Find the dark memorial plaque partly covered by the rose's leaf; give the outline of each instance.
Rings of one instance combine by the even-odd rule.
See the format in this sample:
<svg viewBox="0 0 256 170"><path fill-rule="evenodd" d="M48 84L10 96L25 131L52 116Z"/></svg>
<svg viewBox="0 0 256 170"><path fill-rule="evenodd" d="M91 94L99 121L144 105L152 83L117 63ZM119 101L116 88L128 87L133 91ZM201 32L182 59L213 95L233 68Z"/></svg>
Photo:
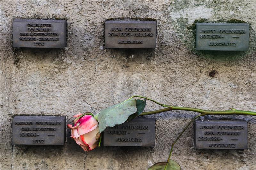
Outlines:
<svg viewBox="0 0 256 170"><path fill-rule="evenodd" d="M155 146L155 118L136 118L104 130L104 146Z"/></svg>

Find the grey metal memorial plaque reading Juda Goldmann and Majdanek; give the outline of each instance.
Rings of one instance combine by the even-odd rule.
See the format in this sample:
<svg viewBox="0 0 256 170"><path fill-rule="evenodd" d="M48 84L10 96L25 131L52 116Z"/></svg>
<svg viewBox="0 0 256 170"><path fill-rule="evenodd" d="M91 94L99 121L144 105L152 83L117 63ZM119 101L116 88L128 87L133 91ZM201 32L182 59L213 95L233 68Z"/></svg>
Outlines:
<svg viewBox="0 0 256 170"><path fill-rule="evenodd" d="M156 21L106 21L105 48L156 48Z"/></svg>

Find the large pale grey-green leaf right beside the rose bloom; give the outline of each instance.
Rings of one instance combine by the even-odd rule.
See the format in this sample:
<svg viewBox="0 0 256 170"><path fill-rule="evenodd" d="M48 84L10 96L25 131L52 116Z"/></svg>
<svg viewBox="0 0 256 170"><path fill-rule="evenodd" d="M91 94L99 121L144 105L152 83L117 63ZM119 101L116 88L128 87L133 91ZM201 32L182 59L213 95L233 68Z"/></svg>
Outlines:
<svg viewBox="0 0 256 170"><path fill-rule="evenodd" d="M128 117L135 112L137 112L137 108L134 98L100 110L100 114L98 115L100 133L103 132L107 126L113 127L116 124L124 123Z"/></svg>

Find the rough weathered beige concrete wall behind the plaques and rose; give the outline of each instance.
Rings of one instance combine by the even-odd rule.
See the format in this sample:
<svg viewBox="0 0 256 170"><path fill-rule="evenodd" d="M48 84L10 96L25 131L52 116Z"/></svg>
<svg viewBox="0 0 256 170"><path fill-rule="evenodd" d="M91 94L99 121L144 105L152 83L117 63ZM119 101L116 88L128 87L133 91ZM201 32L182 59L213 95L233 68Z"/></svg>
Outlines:
<svg viewBox="0 0 256 170"><path fill-rule="evenodd" d="M166 161L170 144L195 113L156 117L154 148L101 147L84 152L64 146L13 146L14 115L74 114L118 103L133 94L165 104L256 111L255 1L1 1L1 169L147 169ZM104 49L109 18L157 20L157 48ZM67 20L65 49L12 48L13 18ZM197 52L195 20L250 24L247 52ZM209 76L209 72L217 73ZM146 111L160 107L148 102ZM248 149L196 150L192 126L172 159L182 169L255 169L256 118L248 122ZM220 118L209 116L209 118Z"/></svg>

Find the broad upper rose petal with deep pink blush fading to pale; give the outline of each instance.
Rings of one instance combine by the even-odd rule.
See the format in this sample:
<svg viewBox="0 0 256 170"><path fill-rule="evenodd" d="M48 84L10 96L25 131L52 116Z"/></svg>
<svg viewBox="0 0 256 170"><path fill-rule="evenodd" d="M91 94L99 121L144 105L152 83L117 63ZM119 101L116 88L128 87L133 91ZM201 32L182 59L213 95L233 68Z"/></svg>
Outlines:
<svg viewBox="0 0 256 170"><path fill-rule="evenodd" d="M79 123L77 130L79 135L91 132L98 126L98 121L92 115L83 116L77 121L77 123Z"/></svg>

